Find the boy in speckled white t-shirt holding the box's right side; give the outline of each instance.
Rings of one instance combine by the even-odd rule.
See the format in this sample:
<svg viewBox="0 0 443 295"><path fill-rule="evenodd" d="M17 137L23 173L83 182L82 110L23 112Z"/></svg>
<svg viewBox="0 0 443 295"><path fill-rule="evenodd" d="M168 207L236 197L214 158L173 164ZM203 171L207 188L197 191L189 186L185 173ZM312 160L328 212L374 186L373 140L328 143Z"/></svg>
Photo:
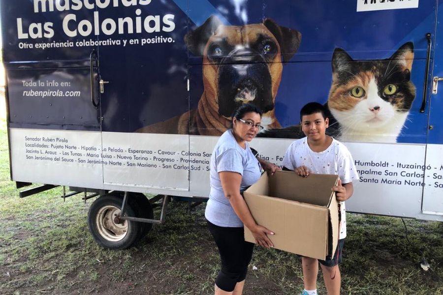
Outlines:
<svg viewBox="0 0 443 295"><path fill-rule="evenodd" d="M329 295L340 294L341 275L338 264L342 261L342 249L346 237L345 201L352 196L352 180L358 179L351 154L342 143L325 134L329 119L325 108L316 102L306 104L300 111L301 126L305 138L294 141L285 153L284 170L293 170L301 177L311 173L336 174L340 177L332 190L340 201L340 236L337 251L332 259L320 261L302 257L303 281L305 290L302 295L316 295L318 262L323 271L324 284Z"/></svg>

